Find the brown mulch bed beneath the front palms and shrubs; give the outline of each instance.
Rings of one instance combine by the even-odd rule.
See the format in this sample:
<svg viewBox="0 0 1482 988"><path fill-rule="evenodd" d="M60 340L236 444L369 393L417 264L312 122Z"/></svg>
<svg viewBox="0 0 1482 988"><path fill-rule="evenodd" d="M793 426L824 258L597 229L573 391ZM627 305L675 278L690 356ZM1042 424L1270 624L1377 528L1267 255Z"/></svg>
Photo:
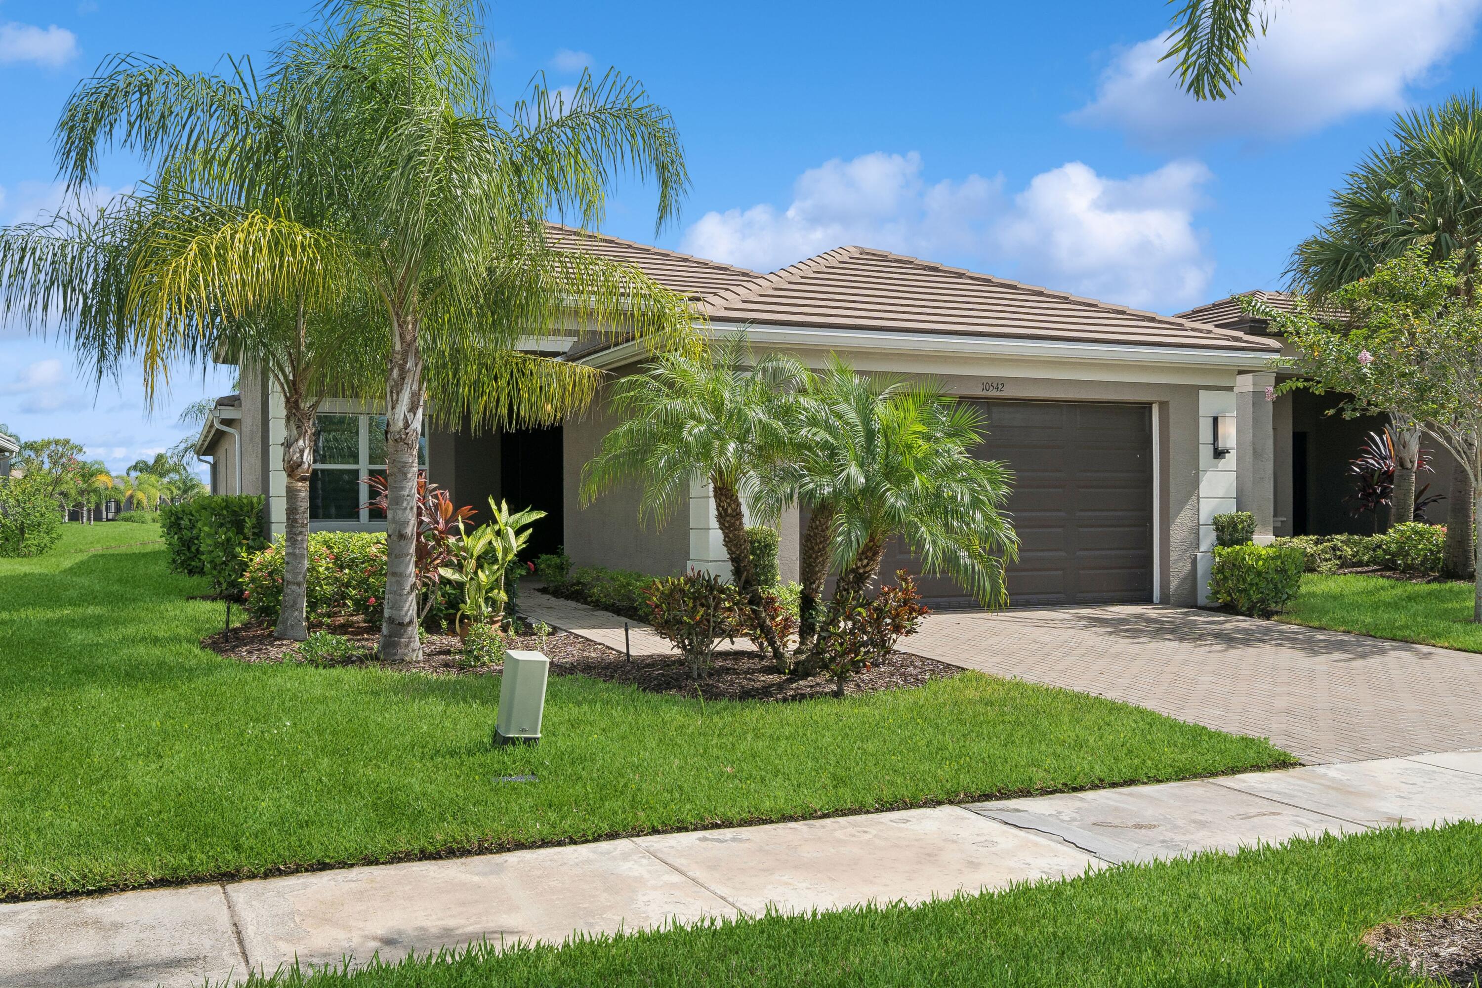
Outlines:
<svg viewBox="0 0 1482 988"><path fill-rule="evenodd" d="M316 628L317 631L319 628ZM344 635L365 653L375 650L379 628L365 621L351 619L333 624L326 631ZM273 637L273 628L246 624L230 632L215 632L202 638L202 646L239 662L293 662L298 661L296 641L282 641ZM717 652L714 668L698 684L689 674L689 664L679 655L634 655L625 659L621 652L582 638L568 631L556 631L544 643L536 635L517 635L511 649L544 652L551 661L554 675L590 675L609 683L637 686L649 693L671 693L674 696L701 696L704 699L765 699L793 701L833 693L833 681L823 677L797 678L781 675L760 652L737 649ZM375 665L403 671L419 671L445 675L498 675L502 667L485 665L464 668L461 665L462 643L456 635L428 634L422 640L422 658L408 664L385 664L373 658L357 665ZM962 670L946 662L935 662L907 652L892 652L883 662L861 671L846 684L846 692L874 693L877 690L922 686L929 680L957 675Z"/></svg>

